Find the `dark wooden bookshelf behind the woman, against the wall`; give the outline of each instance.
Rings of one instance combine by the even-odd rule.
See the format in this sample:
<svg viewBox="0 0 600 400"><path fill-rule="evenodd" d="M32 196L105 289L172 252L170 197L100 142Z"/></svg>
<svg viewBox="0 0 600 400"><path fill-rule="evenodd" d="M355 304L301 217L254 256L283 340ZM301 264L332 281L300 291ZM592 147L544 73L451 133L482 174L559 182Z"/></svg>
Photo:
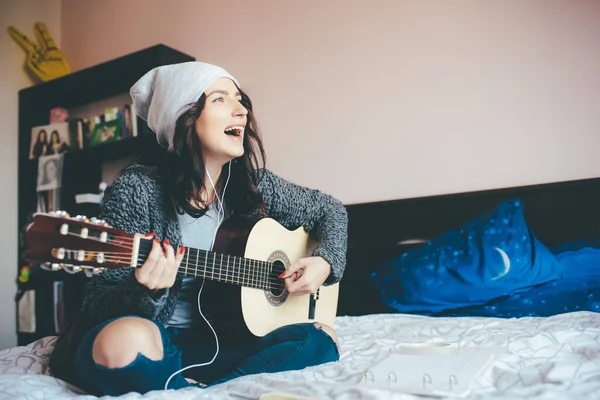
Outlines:
<svg viewBox="0 0 600 400"><path fill-rule="evenodd" d="M50 110L54 107L70 110L126 95L129 88L152 68L194 60L190 55L159 44L19 91L19 238L28 216L37 209L38 163L37 160L29 159L32 128L48 124ZM153 135L140 135L65 153L62 186L57 196L59 207L71 215L79 214L75 195L98 192L104 163L135 155L152 154L157 149L158 144ZM18 241L17 246L18 274L26 263L22 257L25 251L22 240ZM68 318L79 307L87 279L82 273L71 275L63 271L51 272L35 267L26 283L17 281L18 344L24 345L41 337L59 333L55 322L57 312ZM61 310L57 310L55 305L56 282L62 285ZM35 294L35 331L25 333L19 331L18 300L28 291L34 291Z"/></svg>

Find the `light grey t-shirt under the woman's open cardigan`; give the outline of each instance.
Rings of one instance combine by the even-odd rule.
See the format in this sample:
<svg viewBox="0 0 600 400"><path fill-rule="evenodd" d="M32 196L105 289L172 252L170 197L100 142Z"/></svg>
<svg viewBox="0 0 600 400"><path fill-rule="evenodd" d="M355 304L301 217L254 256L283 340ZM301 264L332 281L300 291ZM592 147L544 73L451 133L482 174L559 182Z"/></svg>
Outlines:
<svg viewBox="0 0 600 400"><path fill-rule="evenodd" d="M177 215L184 246L193 249L211 250L217 229L217 210L216 204L212 203L206 214L200 218L194 218L187 213ZM192 290L194 279L197 278L183 278L179 299L167 326L189 328L192 325L192 320L199 316L198 292Z"/></svg>

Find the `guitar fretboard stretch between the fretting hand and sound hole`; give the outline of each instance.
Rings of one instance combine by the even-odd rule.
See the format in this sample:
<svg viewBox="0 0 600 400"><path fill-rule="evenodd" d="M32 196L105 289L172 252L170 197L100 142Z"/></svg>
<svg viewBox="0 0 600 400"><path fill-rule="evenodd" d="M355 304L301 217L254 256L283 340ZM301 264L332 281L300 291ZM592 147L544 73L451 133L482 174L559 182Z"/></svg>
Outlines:
<svg viewBox="0 0 600 400"><path fill-rule="evenodd" d="M179 266L186 276L270 290L276 283L273 264L187 247Z"/></svg>

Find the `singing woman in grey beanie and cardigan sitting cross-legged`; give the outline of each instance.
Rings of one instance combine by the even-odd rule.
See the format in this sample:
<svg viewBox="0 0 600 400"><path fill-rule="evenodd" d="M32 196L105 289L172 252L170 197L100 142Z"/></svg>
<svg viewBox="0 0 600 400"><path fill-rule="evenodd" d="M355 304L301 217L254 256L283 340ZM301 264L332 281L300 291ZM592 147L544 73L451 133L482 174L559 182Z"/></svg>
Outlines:
<svg viewBox="0 0 600 400"><path fill-rule="evenodd" d="M155 165L125 168L104 194L101 218L154 238L141 268L92 278L59 337L52 373L97 395L214 385L261 372L336 361L332 327L299 323L264 337L214 332L202 279L177 274L185 246L211 250L223 220L270 217L304 226L318 245L280 276L291 295L339 282L345 267L343 205L265 169L250 99L220 67L155 68L131 89L138 114L166 149ZM182 371L183 370L183 371Z"/></svg>

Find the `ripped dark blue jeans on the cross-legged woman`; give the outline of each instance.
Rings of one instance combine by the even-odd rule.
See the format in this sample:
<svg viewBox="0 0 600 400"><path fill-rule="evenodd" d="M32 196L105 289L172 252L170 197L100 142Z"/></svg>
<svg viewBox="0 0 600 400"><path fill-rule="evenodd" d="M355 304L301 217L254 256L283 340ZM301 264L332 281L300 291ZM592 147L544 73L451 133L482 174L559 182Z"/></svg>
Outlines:
<svg viewBox="0 0 600 400"><path fill-rule="evenodd" d="M123 368L107 368L94 362L92 348L98 333L112 321L91 329L79 344L75 356L78 384L97 396L162 390L175 371L209 362L215 355L214 336L199 336L193 328L165 328L152 320L162 336L163 359L153 361L139 353L131 364ZM331 336L312 323L284 326L264 337L241 343L219 338L219 347L219 353L211 364L190 368L173 376L168 389L197 386L185 378L212 386L244 375L298 370L339 360L339 352Z"/></svg>

